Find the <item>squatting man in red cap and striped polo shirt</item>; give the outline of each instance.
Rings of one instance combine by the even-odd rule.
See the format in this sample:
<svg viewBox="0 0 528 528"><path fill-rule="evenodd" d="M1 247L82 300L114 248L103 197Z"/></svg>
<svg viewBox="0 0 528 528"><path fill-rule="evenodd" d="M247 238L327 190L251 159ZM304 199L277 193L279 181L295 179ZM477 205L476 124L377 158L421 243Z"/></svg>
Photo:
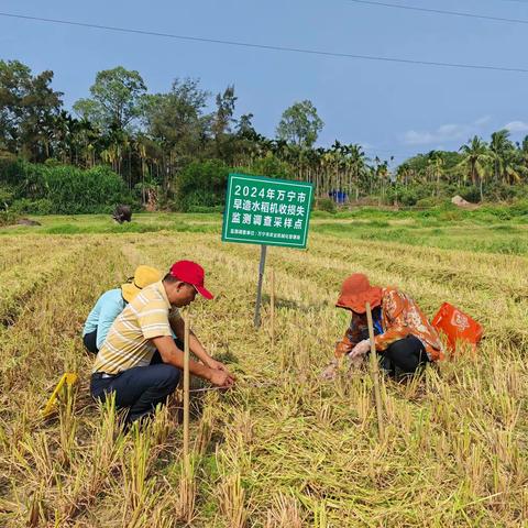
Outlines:
<svg viewBox="0 0 528 528"><path fill-rule="evenodd" d="M90 391L96 399L116 395L118 408L127 408L128 422L152 414L177 387L184 353L173 339L183 340L184 322L178 308L190 305L196 294L212 299L204 286L204 268L190 261L176 262L163 280L143 288L114 320L99 350ZM189 349L200 360L190 361L191 374L219 387L229 387L234 377L213 360L191 333ZM163 363L151 364L156 350Z"/></svg>

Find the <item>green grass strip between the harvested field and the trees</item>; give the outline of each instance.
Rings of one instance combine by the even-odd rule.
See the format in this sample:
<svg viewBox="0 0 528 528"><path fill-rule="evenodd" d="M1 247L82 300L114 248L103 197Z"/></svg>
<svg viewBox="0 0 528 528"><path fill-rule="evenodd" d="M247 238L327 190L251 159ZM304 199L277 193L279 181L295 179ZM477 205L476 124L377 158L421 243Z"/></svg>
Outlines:
<svg viewBox="0 0 528 528"><path fill-rule="evenodd" d="M502 212L509 220L501 220ZM519 215L510 215L510 210ZM439 207L427 211L387 211L362 208L336 215L315 211L310 231L340 239L399 242L414 246L512 255L528 254L528 222L524 209L490 208L465 211ZM41 234L132 234L132 233L211 233L220 237L220 213L138 213L132 222L118 224L107 215L32 217L41 227L0 228L0 235Z"/></svg>

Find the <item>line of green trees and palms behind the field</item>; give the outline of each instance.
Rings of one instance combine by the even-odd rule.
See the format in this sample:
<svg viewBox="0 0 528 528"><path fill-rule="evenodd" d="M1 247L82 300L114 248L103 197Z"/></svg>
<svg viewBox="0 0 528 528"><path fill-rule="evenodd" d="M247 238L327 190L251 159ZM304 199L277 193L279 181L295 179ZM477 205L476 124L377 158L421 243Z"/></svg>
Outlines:
<svg viewBox="0 0 528 528"><path fill-rule="evenodd" d="M92 200L105 208L118 199L147 208L215 207L231 169L308 180L319 198L352 202L415 205L453 194L510 199L528 183L528 138L516 144L505 130L490 142L475 136L458 152L418 154L391 170L391 161L369 158L359 144L317 146L324 123L308 100L287 108L276 136L266 138L252 113L238 114L232 85L213 95L197 79L176 78L167 91L152 94L139 72L118 66L99 72L89 97L68 111L53 77L0 61L0 198L19 206L25 199L28 210L36 200L54 212L90 212ZM29 174L38 183L28 184ZM69 194L52 183L61 178Z"/></svg>

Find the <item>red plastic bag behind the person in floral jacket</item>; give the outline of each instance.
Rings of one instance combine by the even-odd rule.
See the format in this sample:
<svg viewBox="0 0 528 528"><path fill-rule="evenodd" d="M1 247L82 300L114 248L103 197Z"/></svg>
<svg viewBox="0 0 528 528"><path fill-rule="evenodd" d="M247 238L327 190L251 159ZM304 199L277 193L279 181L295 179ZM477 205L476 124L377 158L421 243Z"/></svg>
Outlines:
<svg viewBox="0 0 528 528"><path fill-rule="evenodd" d="M484 332L482 324L449 302L444 302L440 307L432 320L432 326L439 332L446 334L451 353L457 352L459 341L469 343L473 352L475 352Z"/></svg>

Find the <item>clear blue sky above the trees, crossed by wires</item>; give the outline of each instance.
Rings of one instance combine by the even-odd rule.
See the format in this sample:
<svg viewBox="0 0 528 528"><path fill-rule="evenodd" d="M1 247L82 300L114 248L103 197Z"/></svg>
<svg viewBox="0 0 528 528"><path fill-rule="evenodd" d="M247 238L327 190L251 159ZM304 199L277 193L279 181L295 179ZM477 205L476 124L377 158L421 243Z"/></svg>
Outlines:
<svg viewBox="0 0 528 528"><path fill-rule="evenodd" d="M528 1L393 0L528 20ZM528 68L527 26L360 6L349 0L2 0L0 11L167 33L340 53ZM310 99L319 143L361 143L396 161L458 148L504 127L528 134L528 74L462 70L266 52L102 32L0 16L0 58L53 69L65 102L88 95L100 69L138 69L150 91L198 77L212 92L234 84L238 113L274 135L283 110ZM211 99L212 102L212 99Z"/></svg>

